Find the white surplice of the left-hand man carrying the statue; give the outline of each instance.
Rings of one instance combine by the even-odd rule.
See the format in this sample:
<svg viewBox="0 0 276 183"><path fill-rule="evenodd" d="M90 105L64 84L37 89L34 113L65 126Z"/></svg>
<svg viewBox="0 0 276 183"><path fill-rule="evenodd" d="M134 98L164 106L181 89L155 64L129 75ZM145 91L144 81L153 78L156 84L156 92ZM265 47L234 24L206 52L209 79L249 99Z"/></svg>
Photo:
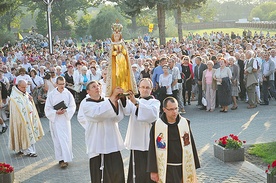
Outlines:
<svg viewBox="0 0 276 183"><path fill-rule="evenodd" d="M123 118L122 107L119 106L119 112L116 114L107 98L101 101L93 101L90 98L82 100L78 121L85 129L85 142L89 158L125 148L118 127L118 122Z"/></svg>

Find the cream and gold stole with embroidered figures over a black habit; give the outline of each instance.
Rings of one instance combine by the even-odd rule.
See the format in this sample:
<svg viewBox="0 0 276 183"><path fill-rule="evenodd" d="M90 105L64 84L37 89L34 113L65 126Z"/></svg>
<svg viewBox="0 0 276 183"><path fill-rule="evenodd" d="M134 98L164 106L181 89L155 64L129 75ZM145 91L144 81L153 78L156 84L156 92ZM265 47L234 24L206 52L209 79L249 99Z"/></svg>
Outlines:
<svg viewBox="0 0 276 183"><path fill-rule="evenodd" d="M183 183L197 183L193 149L191 144L190 129L185 118L180 118L178 123L182 147L182 172ZM155 124L155 149L158 168L159 183L166 182L167 157L168 157L168 125L161 119Z"/></svg>

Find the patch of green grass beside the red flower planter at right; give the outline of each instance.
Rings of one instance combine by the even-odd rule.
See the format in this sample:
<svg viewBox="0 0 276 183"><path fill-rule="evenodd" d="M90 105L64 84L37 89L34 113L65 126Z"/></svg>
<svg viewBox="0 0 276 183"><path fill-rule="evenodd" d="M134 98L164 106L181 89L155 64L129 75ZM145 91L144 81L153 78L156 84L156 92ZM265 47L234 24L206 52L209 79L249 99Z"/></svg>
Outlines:
<svg viewBox="0 0 276 183"><path fill-rule="evenodd" d="M265 163L272 163L276 160L276 142L255 144L249 147L248 153L261 157Z"/></svg>

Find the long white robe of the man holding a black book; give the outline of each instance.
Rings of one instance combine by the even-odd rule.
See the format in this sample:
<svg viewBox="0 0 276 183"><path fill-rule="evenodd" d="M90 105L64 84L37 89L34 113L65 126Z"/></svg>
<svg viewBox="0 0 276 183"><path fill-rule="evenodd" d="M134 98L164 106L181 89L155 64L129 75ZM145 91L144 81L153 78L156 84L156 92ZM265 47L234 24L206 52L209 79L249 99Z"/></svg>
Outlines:
<svg viewBox="0 0 276 183"><path fill-rule="evenodd" d="M54 106L64 101L68 107L64 114L56 114ZM73 95L66 88L59 92L57 88L49 93L45 103L45 115L50 122L51 136L54 142L56 160L65 162L72 161L72 132L71 118L76 110L76 103Z"/></svg>

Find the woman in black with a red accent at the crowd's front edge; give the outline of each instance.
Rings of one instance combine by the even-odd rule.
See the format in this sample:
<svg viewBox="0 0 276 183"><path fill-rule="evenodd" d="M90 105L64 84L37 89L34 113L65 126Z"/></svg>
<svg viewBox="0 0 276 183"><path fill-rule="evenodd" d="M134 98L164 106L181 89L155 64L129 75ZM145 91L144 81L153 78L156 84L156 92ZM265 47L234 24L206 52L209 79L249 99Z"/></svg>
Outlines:
<svg viewBox="0 0 276 183"><path fill-rule="evenodd" d="M187 92L187 101L188 105L191 105L191 93L192 93L192 81L194 78L193 65L190 63L190 58L184 56L182 60L182 73L185 75L183 83L183 102L186 105L186 92Z"/></svg>

